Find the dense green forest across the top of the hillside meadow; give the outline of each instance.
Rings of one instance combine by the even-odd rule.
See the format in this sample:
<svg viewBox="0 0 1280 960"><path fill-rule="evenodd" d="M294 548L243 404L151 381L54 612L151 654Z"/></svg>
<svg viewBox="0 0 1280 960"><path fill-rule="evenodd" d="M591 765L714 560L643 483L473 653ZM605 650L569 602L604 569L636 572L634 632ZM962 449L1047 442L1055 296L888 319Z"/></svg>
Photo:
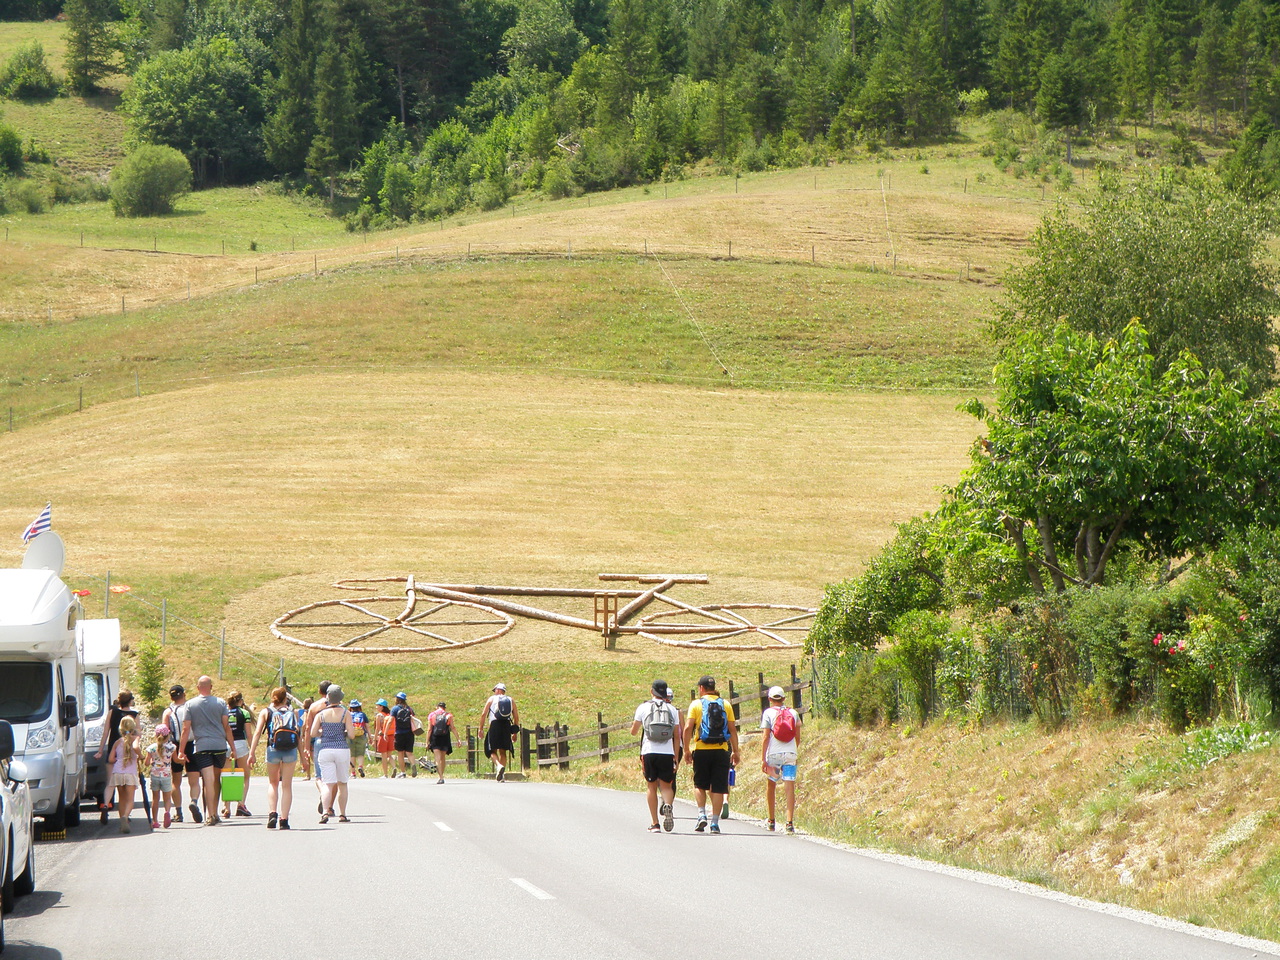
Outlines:
<svg viewBox="0 0 1280 960"><path fill-rule="evenodd" d="M9 15L52 13L8 0ZM1280 166L1263 0L65 0L68 84L129 74L134 142L196 184L283 175L369 218L937 141L963 110L1048 129L1224 115ZM1239 151L1238 151L1239 152Z"/></svg>

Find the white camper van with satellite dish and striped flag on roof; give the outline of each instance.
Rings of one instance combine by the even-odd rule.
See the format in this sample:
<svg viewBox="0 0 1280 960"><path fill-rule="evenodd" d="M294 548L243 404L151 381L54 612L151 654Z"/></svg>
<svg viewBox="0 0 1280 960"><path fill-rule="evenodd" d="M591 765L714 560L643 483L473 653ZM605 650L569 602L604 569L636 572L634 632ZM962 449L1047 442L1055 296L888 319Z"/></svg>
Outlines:
<svg viewBox="0 0 1280 960"><path fill-rule="evenodd" d="M31 541L22 570L0 570L0 719L13 724L35 813L55 831L79 823L84 795L81 605L60 580L64 556L49 531Z"/></svg>

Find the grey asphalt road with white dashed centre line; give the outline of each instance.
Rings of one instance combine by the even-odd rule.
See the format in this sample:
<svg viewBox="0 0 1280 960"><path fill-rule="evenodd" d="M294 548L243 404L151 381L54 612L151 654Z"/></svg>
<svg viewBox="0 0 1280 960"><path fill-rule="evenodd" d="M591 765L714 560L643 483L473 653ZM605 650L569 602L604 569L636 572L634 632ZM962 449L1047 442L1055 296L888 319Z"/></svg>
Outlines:
<svg viewBox="0 0 1280 960"><path fill-rule="evenodd" d="M262 781L257 781L261 786ZM644 797L550 783L352 783L352 823L261 815L154 835L90 823L42 845L5 960L431 956L652 960L1161 960L1280 956L1217 934L731 819L649 835ZM264 809L261 792L253 808Z"/></svg>

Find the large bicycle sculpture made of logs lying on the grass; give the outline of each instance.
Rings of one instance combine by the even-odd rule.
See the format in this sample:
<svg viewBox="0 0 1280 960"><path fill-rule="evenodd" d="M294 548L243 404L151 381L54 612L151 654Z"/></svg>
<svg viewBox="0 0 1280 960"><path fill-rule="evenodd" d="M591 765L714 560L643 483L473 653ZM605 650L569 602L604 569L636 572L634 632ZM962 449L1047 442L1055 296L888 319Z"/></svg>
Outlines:
<svg viewBox="0 0 1280 960"><path fill-rule="evenodd" d="M402 584L403 589L398 595L308 603L278 617L271 632L317 650L435 653L488 643L509 631L516 617L525 617L594 631L608 648L620 635L634 634L701 650L795 650L804 645L817 613L812 607L777 603L695 604L668 593L677 584L707 584L704 573L600 573L600 580L640 589L424 584L412 576L339 580L334 586L340 590L376 589L372 584ZM573 617L506 598L591 600L594 616ZM653 604L662 609L639 616Z"/></svg>

